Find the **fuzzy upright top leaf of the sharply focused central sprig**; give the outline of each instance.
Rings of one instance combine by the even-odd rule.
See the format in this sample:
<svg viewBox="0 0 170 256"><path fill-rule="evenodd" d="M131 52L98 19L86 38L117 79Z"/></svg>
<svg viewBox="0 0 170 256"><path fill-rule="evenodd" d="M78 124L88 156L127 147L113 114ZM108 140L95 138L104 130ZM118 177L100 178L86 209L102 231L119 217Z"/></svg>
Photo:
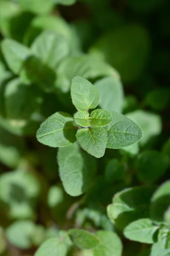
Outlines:
<svg viewBox="0 0 170 256"><path fill-rule="evenodd" d="M71 99L79 111L96 108L100 95L96 87L88 80L76 76L71 82Z"/></svg>

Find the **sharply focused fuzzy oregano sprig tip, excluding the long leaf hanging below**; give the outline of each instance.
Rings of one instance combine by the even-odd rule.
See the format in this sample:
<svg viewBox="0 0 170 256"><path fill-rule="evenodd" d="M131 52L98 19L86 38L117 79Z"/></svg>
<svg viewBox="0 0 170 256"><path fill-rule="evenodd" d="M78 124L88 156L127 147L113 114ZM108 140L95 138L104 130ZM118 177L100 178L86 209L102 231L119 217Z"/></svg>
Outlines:
<svg viewBox="0 0 170 256"><path fill-rule="evenodd" d="M94 109L99 104L100 93L87 79L81 76L72 79L71 99L77 113L72 117L57 112L48 117L37 131L40 143L65 147L77 140L82 149L99 158L105 154L106 148L122 148L141 139L141 129L126 116ZM93 111L89 113L89 110Z"/></svg>

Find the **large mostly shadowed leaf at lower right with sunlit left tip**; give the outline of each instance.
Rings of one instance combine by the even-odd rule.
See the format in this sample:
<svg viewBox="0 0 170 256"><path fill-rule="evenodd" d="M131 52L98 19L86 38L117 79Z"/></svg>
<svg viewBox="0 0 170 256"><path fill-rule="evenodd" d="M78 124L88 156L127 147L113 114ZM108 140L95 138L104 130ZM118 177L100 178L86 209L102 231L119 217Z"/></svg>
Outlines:
<svg viewBox="0 0 170 256"><path fill-rule="evenodd" d="M115 194L113 203L108 206L109 218L120 230L139 218L149 218L153 192L153 187L141 186Z"/></svg>

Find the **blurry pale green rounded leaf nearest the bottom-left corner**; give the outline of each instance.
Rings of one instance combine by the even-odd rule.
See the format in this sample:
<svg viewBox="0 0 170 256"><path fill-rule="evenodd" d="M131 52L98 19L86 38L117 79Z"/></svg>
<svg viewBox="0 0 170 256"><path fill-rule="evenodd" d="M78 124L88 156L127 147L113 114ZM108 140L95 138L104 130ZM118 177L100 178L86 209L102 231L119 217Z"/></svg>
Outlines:
<svg viewBox="0 0 170 256"><path fill-rule="evenodd" d="M6 238L14 246L20 249L32 247L31 235L34 232L32 221L16 221L6 229Z"/></svg>

